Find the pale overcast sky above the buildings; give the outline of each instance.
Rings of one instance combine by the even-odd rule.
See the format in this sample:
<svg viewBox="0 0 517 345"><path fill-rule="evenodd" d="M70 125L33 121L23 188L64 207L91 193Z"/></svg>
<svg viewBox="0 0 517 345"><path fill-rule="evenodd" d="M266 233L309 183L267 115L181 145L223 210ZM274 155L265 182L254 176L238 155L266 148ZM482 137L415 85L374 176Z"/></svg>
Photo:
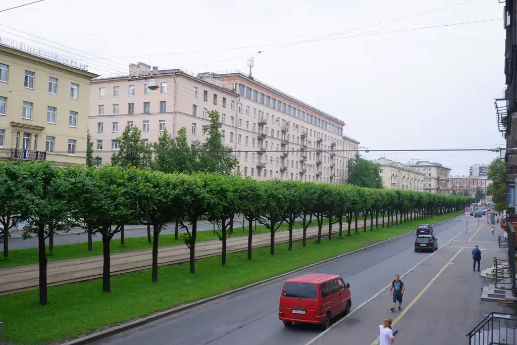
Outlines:
<svg viewBox="0 0 517 345"><path fill-rule="evenodd" d="M342 119L344 133L371 150L504 147L493 106L505 83L503 4L472 0L413 16L467 1L45 0L0 13L0 36L75 57L103 75L138 61L246 71L254 56L256 79ZM2 0L0 10L27 2ZM498 20L484 21L491 19ZM472 21L484 22L450 25ZM470 164L497 156L364 155L439 161L466 175Z"/></svg>

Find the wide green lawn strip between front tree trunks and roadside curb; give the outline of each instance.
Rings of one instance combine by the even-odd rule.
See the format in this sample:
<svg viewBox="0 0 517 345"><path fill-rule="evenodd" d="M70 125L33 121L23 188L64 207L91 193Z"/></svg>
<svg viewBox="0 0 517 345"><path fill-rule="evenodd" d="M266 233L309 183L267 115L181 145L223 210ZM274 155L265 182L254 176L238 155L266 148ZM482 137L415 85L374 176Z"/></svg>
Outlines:
<svg viewBox="0 0 517 345"><path fill-rule="evenodd" d="M427 219L435 223L462 214ZM228 263L220 265L220 257L196 262L196 274L189 274L189 264L159 268L159 282L151 282L149 269L112 277L112 292L102 293L101 280L67 284L49 288L49 305L38 305L38 290L0 296L0 320L4 322L3 341L15 344L44 344L63 341L91 333L107 325L145 317L152 312L169 309L225 291L246 286L293 269L339 254L362 248L403 233L414 231L414 221L392 228L378 229L342 239L309 241L287 251L287 244L253 250L253 260L246 253L228 254ZM280 293L280 292L279 292Z"/></svg>

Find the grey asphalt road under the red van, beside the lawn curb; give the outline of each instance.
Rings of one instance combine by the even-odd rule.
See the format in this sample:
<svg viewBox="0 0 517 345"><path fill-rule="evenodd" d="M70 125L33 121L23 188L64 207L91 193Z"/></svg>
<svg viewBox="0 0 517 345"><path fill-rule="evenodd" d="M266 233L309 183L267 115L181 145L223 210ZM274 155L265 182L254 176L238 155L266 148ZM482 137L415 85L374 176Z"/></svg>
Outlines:
<svg viewBox="0 0 517 345"><path fill-rule="evenodd" d="M475 223L469 223L473 229ZM477 229L477 227L476 227ZM457 217L434 227L438 245L447 244L465 231L465 217ZM470 230L473 231L473 230ZM352 309L377 294L395 274L403 274L430 253L415 253L414 233L351 256L298 272L333 273L351 284ZM136 327L95 344L154 345L246 344L299 345L321 331L314 326L295 325L286 328L278 320L280 290L286 277L257 288L202 305L183 313ZM209 282L207 282L209 283ZM373 340L373 339L372 339Z"/></svg>

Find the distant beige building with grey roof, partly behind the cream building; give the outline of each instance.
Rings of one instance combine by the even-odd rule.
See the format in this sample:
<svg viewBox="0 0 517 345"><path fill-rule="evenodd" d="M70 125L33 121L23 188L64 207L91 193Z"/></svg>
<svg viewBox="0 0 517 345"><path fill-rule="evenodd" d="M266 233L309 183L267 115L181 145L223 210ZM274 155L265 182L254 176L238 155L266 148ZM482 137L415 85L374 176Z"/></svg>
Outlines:
<svg viewBox="0 0 517 345"><path fill-rule="evenodd" d="M415 161L404 164L414 171L423 173L424 191L438 194L450 194L451 169L440 163L430 161Z"/></svg>

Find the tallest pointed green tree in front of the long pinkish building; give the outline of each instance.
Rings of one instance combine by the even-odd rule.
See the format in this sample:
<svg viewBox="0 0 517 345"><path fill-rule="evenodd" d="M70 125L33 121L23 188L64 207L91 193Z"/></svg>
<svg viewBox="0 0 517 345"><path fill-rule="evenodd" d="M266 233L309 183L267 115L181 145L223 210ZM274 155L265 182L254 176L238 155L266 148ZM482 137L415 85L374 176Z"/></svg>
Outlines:
<svg viewBox="0 0 517 345"><path fill-rule="evenodd" d="M233 149L224 145L222 134L219 131L221 122L219 112L212 110L208 112L210 124L203 128L206 132L206 141L203 145L195 145L201 151L199 155L199 171L219 172L230 174L237 167L237 159L233 156Z"/></svg>

